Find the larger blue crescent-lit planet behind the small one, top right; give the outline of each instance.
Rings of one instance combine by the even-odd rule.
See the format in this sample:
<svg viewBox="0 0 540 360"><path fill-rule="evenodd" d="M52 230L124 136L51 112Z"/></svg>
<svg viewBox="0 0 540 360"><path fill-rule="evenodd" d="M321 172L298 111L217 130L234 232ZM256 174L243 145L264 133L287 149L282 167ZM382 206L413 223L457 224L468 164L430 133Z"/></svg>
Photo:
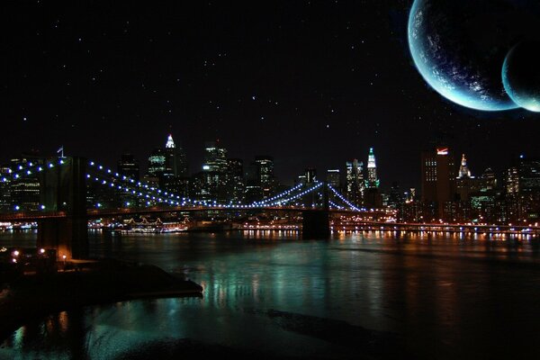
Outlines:
<svg viewBox="0 0 540 360"><path fill-rule="evenodd" d="M416 0L409 45L419 73L439 94L482 111L518 108L501 71L510 49L539 36L537 0Z"/></svg>

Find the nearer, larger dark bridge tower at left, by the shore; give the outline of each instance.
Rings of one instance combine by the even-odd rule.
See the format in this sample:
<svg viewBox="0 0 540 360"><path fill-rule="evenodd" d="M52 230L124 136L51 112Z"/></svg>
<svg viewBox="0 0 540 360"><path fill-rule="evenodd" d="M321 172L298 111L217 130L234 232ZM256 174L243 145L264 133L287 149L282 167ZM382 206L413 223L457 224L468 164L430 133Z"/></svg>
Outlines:
<svg viewBox="0 0 540 360"><path fill-rule="evenodd" d="M88 256L86 216L86 159L60 157L62 165L49 167L40 178L41 203L47 211L66 217L40 220L38 247L57 249L58 257Z"/></svg>

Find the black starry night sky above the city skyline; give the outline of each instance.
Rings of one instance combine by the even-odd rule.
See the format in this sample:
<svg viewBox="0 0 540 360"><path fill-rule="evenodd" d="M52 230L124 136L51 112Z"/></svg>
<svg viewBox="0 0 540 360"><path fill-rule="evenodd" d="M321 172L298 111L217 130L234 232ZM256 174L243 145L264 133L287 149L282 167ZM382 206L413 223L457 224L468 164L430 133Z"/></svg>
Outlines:
<svg viewBox="0 0 540 360"><path fill-rule="evenodd" d="M374 147L386 188L419 186L437 141L473 175L540 155L539 114L468 110L429 88L407 44L411 1L53 3L2 4L2 160L63 145L108 166L130 151L146 170L172 132L192 172L220 139L246 163L274 156L285 184Z"/></svg>

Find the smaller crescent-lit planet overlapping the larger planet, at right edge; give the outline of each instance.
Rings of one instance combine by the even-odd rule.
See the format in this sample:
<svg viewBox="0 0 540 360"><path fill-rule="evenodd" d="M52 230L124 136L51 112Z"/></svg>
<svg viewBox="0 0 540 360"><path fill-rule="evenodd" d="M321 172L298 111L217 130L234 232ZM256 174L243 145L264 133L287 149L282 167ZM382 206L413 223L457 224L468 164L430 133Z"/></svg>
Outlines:
<svg viewBox="0 0 540 360"><path fill-rule="evenodd" d="M522 41L509 51L502 81L510 98L530 112L540 112L540 43Z"/></svg>

